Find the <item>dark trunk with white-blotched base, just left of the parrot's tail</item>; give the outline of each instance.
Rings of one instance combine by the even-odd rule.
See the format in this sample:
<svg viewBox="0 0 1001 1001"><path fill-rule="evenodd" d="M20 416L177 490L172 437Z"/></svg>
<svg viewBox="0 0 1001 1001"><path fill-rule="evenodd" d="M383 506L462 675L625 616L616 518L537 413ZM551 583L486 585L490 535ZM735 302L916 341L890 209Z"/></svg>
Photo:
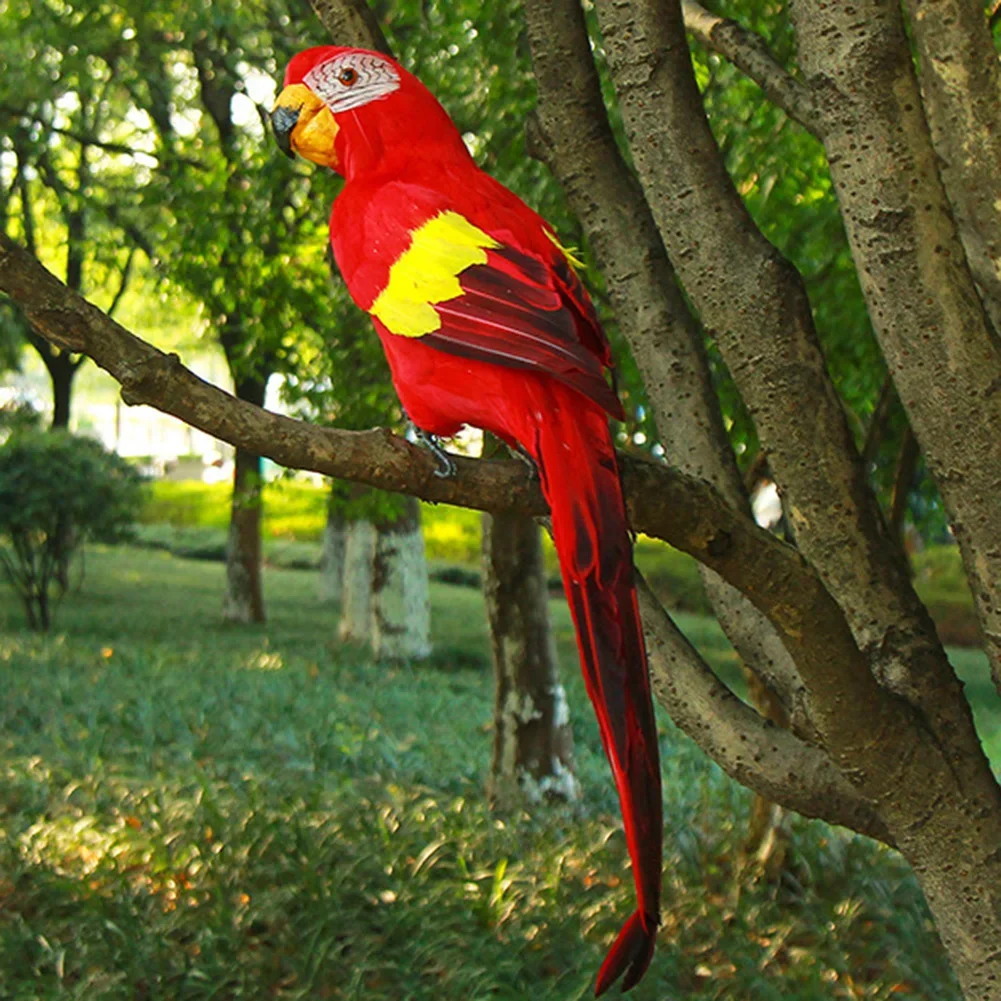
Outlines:
<svg viewBox="0 0 1001 1001"><path fill-rule="evenodd" d="M495 681L490 800L504 809L575 800L574 731L532 519L483 516L483 595Z"/></svg>

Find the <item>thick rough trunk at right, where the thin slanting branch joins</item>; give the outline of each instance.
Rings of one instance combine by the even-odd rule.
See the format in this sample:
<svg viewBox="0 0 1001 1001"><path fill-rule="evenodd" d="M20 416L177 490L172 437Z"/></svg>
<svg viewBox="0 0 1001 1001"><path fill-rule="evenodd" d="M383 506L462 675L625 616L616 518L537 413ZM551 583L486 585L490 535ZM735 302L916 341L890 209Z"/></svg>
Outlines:
<svg viewBox="0 0 1001 1001"><path fill-rule="evenodd" d="M873 327L949 510L1001 690L1001 351L939 178L903 15L792 9Z"/></svg>

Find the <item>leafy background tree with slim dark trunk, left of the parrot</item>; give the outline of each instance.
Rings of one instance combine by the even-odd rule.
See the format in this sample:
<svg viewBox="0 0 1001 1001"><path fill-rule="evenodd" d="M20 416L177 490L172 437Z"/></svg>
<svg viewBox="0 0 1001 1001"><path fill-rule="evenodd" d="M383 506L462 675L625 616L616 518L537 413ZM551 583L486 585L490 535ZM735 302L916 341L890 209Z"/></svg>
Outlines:
<svg viewBox="0 0 1001 1001"><path fill-rule="evenodd" d="M278 3L194 11L123 4L121 13L140 60L130 94L164 165L143 186L132 224L162 273L202 304L237 397L263 405L270 377L289 367L290 335L321 309L321 261L294 287L285 267L315 235L313 179L267 158L259 103L267 100L263 74L273 75L303 39L289 37ZM311 243L314 253L322 246ZM264 618L261 480L260 456L237 448L223 603L237 622Z"/></svg>

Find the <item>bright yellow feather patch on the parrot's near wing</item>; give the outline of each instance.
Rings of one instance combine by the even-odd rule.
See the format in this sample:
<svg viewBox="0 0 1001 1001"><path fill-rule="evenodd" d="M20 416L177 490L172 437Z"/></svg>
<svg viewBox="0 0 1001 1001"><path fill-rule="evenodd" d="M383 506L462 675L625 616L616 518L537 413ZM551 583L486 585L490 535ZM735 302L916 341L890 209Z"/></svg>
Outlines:
<svg viewBox="0 0 1001 1001"><path fill-rule="evenodd" d="M441 325L434 303L461 295L458 275L473 264L485 264L487 249L498 246L458 212L441 212L413 231L368 311L391 333L431 333Z"/></svg>

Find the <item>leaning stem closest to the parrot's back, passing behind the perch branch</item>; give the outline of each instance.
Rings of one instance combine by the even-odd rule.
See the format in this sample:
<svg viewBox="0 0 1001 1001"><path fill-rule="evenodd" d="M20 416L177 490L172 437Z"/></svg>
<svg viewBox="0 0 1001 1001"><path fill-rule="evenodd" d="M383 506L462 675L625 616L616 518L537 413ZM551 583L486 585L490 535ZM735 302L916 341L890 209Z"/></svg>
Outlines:
<svg viewBox="0 0 1001 1001"><path fill-rule="evenodd" d="M536 146L567 190L608 277L619 324L644 373L658 435L673 465L750 508L692 315L636 178L616 144L577 0L527 0L539 82ZM703 581L748 669L776 693L793 726L813 731L803 683L774 629L712 571Z"/></svg>

